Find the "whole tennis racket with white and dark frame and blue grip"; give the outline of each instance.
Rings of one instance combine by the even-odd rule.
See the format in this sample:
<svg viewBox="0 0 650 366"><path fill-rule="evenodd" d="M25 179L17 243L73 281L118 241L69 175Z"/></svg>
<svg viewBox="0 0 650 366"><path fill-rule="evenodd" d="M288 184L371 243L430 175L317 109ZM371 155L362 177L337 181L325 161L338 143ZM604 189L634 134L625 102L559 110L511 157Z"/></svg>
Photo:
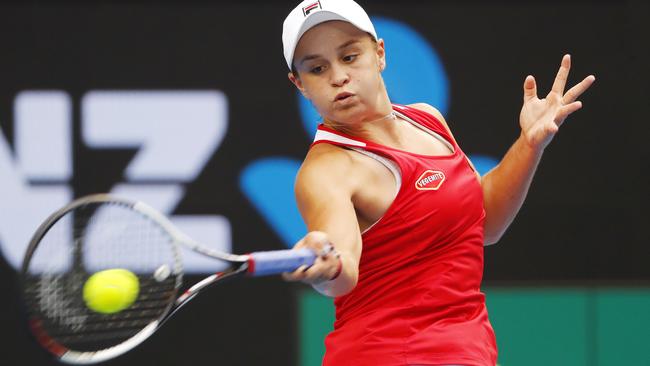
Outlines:
<svg viewBox="0 0 650 366"><path fill-rule="evenodd" d="M180 293L182 248L229 268ZM45 220L29 243L21 280L37 341L63 362L92 364L133 349L211 285L290 272L312 265L316 256L310 249L222 253L192 240L142 202L100 194L77 199ZM138 277L137 298L112 314L89 309L85 282L93 273L115 268Z"/></svg>

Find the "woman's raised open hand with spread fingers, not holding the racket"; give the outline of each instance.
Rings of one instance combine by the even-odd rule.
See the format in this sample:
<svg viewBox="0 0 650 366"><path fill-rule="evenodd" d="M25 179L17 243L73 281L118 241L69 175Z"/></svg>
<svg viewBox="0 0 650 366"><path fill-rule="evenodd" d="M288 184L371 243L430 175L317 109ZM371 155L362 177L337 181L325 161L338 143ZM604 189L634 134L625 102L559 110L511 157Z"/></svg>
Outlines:
<svg viewBox="0 0 650 366"><path fill-rule="evenodd" d="M546 148L571 113L582 108L582 102L576 99L596 80L593 75L589 75L565 93L570 69L571 56L564 55L553 87L546 98L537 97L537 85L533 76L527 76L524 81L524 105L519 115L521 136L527 145L537 152Z"/></svg>

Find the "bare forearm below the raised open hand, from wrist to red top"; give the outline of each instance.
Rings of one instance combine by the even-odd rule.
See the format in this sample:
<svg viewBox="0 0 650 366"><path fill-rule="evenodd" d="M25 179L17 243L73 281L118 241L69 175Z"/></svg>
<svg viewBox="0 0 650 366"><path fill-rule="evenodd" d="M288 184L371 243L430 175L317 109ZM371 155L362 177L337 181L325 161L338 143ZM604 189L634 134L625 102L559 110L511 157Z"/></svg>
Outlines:
<svg viewBox="0 0 650 366"><path fill-rule="evenodd" d="M499 165L481 178L486 245L496 243L514 220L541 157L542 151L531 148L520 136Z"/></svg>

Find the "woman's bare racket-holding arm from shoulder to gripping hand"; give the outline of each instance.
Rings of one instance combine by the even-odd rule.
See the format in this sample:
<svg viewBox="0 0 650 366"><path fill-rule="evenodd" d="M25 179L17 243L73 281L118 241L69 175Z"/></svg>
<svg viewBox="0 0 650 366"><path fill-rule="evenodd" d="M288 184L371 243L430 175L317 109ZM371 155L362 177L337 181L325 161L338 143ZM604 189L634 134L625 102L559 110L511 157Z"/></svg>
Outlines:
<svg viewBox="0 0 650 366"><path fill-rule="evenodd" d="M348 154L331 145L314 146L298 172L295 186L298 209L308 230L295 248L319 252L331 244L338 255L321 256L309 268L284 274L288 281L303 281L332 297L350 292L359 277L361 233L352 204L358 179ZM331 280L339 268L340 274Z"/></svg>

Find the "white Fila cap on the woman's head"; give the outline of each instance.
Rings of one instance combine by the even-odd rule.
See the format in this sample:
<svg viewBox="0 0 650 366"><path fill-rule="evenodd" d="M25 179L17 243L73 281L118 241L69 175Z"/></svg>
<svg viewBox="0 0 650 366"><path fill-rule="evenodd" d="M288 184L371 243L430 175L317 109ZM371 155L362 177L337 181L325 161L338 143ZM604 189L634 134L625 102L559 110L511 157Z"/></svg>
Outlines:
<svg viewBox="0 0 650 366"><path fill-rule="evenodd" d="M300 37L312 27L330 20L352 23L377 39L368 14L353 0L304 0L289 13L282 26L284 58L289 69Z"/></svg>

